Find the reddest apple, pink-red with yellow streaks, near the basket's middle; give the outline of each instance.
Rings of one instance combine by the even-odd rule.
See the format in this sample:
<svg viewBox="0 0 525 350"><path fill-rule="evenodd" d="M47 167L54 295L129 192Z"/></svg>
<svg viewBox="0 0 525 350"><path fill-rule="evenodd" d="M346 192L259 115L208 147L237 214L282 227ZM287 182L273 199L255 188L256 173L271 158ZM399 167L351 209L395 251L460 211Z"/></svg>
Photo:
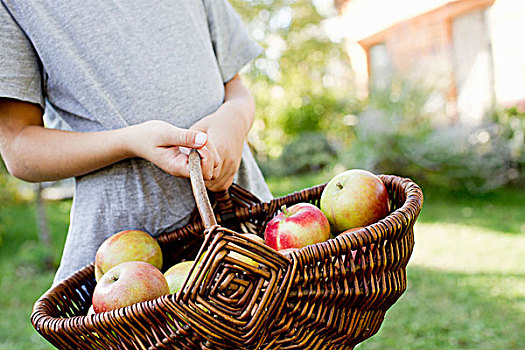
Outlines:
<svg viewBox="0 0 525 350"><path fill-rule="evenodd" d="M264 241L275 249L302 248L330 238L330 224L323 212L310 203L283 206L266 225Z"/></svg>

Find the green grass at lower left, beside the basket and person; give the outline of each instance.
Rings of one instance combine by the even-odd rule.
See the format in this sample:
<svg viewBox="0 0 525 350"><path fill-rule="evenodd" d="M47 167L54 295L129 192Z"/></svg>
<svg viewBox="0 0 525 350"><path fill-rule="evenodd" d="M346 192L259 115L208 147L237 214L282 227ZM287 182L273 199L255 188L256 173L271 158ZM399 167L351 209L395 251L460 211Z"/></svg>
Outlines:
<svg viewBox="0 0 525 350"><path fill-rule="evenodd" d="M48 205L55 263L65 241L69 209L70 202ZM30 323L33 303L54 276L43 264L48 250L38 242L35 207L0 208L0 225L0 350L53 349Z"/></svg>

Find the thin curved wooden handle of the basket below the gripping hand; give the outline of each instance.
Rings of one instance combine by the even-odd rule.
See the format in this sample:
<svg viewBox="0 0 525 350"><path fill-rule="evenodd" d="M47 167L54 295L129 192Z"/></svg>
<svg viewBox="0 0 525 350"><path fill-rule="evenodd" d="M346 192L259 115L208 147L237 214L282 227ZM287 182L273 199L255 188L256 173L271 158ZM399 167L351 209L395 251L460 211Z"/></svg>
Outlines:
<svg viewBox="0 0 525 350"><path fill-rule="evenodd" d="M213 208L208 198L204 178L202 177L201 156L196 149L192 149L189 154L189 170L193 196L197 203L197 208L206 229L217 225L217 220L213 214Z"/></svg>

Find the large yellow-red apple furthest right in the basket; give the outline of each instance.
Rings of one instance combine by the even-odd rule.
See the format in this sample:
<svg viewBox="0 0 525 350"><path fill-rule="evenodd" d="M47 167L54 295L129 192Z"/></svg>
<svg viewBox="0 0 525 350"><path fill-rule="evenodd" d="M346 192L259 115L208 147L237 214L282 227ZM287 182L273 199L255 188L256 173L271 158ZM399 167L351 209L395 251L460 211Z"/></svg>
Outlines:
<svg viewBox="0 0 525 350"><path fill-rule="evenodd" d="M320 208L334 232L364 227L388 215L388 191L377 175L351 169L328 182L321 194Z"/></svg>

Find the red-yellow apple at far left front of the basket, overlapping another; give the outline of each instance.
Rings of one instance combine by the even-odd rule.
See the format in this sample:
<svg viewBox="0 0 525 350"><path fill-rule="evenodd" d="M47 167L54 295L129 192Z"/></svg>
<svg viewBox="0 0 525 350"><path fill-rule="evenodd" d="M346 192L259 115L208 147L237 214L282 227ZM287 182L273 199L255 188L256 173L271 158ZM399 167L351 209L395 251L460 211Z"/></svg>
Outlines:
<svg viewBox="0 0 525 350"><path fill-rule="evenodd" d="M166 278L143 261L123 262L102 276L93 291L96 313L115 310L169 294Z"/></svg>

